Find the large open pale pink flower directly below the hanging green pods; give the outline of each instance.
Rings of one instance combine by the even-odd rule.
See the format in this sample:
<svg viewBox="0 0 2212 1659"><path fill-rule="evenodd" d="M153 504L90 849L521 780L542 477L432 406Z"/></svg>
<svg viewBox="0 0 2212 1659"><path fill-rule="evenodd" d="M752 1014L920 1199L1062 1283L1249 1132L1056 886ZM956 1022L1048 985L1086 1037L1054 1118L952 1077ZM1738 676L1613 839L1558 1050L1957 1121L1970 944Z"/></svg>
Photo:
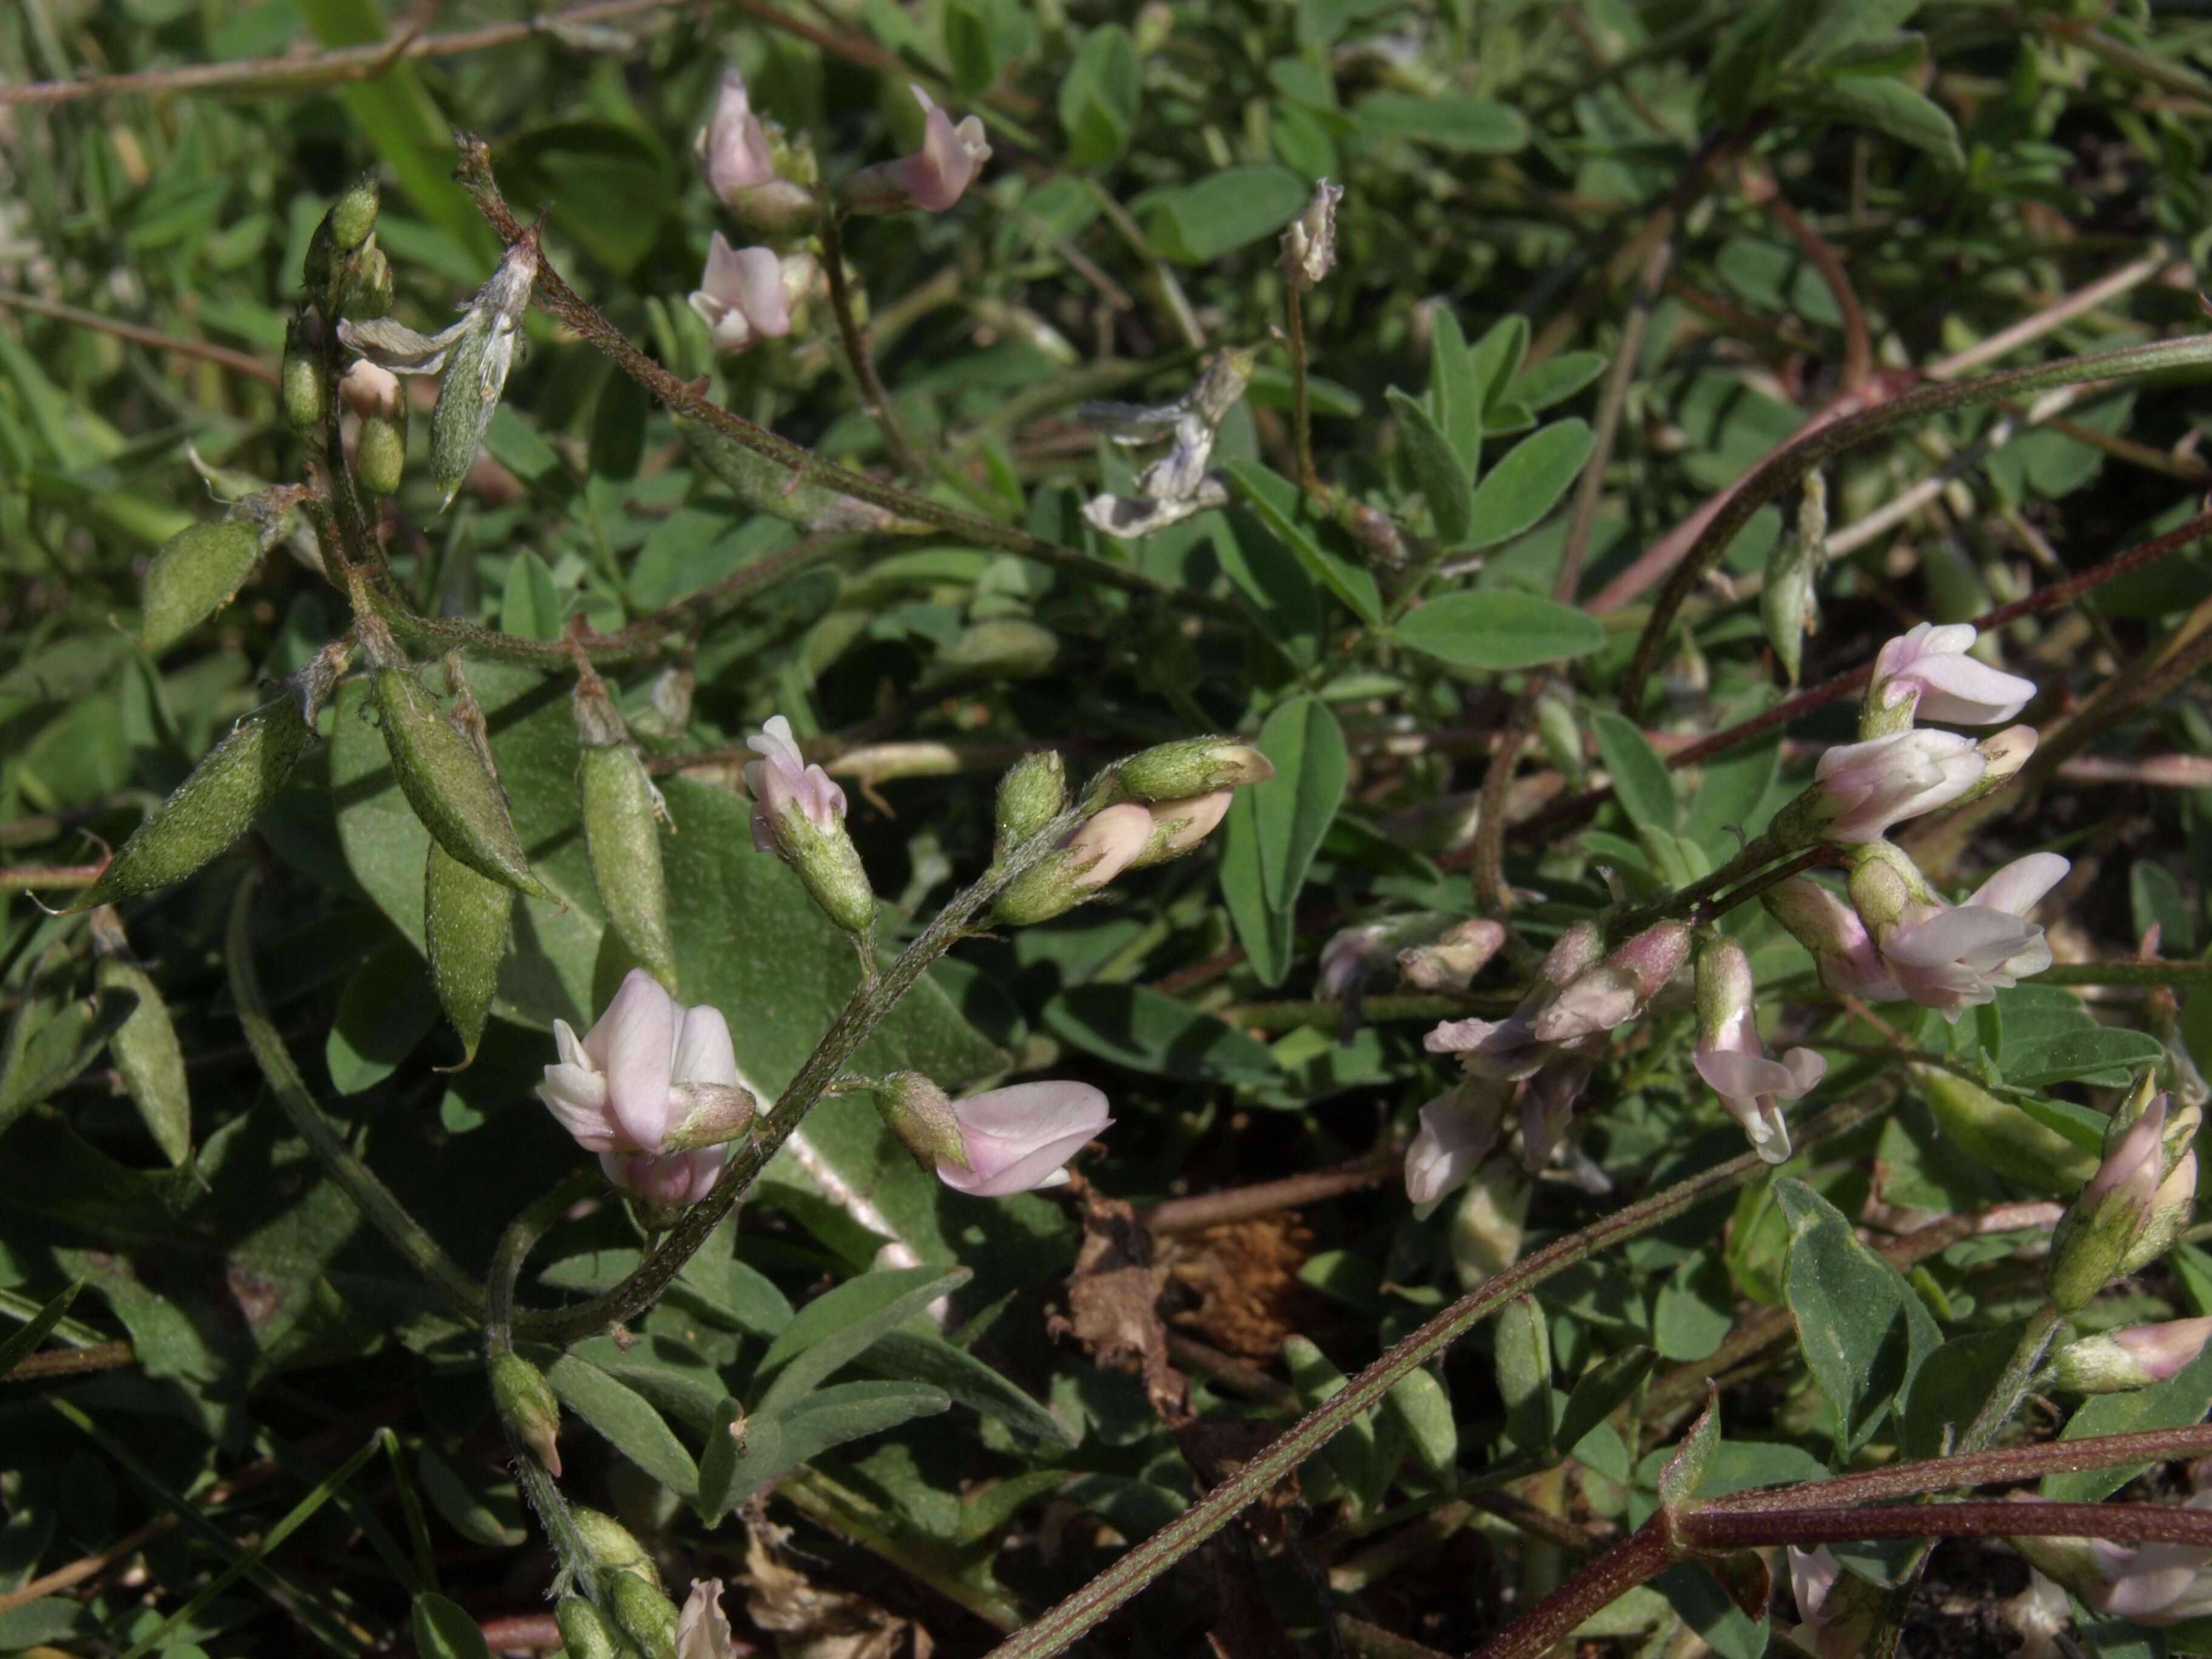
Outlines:
<svg viewBox="0 0 2212 1659"><path fill-rule="evenodd" d="M630 969L599 1022L580 1040L553 1022L560 1060L538 1097L606 1179L653 1203L697 1203L721 1175L726 1146L664 1150L699 1110L703 1091L737 1091L737 1053L719 1009L677 1004L661 982Z"/></svg>

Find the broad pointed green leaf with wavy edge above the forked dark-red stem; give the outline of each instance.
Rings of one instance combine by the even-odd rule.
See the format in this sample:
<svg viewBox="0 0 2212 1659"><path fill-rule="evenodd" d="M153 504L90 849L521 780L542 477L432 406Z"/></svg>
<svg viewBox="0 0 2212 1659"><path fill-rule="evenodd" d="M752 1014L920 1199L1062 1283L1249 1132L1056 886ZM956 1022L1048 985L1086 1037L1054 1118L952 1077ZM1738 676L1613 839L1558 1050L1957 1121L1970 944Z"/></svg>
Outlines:
<svg viewBox="0 0 2212 1659"><path fill-rule="evenodd" d="M1843 1212L1803 1181L1776 1181L1790 1221L1783 1290L1805 1365L1834 1411L1836 1458L1867 1444L1942 1343L1905 1276L1851 1232Z"/></svg>

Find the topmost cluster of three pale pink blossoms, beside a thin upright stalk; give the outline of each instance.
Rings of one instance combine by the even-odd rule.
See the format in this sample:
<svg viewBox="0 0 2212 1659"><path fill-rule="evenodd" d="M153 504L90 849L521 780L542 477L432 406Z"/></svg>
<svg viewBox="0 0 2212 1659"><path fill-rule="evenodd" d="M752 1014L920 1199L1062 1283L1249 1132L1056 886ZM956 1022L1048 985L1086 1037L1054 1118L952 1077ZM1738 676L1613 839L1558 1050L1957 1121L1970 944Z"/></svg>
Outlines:
<svg viewBox="0 0 2212 1659"><path fill-rule="evenodd" d="M982 122L969 115L953 124L920 86L911 91L922 104L922 148L854 173L832 212L942 212L975 181L991 157ZM754 113L745 77L734 69L723 71L697 148L714 197L765 237L732 248L717 230L690 296L719 352L748 352L799 327L805 303L823 292L821 248L810 239L823 212L814 153L805 139L787 137Z"/></svg>

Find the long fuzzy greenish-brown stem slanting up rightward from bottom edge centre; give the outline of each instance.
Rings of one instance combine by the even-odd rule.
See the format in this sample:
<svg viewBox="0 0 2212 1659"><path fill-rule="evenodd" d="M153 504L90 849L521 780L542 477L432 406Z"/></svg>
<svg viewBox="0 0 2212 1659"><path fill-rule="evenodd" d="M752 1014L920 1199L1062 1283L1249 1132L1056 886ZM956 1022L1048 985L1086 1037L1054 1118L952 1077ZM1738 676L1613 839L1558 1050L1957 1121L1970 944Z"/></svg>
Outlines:
<svg viewBox="0 0 2212 1659"><path fill-rule="evenodd" d="M1805 1130L1809 1146L1834 1135L1858 1128L1874 1115L1871 1106L1832 1106ZM1719 1164L1703 1175L1694 1175L1666 1192L1657 1192L1637 1203L1615 1210L1610 1217L1593 1221L1582 1232L1537 1250L1533 1256L1506 1267L1502 1274L1451 1303L1436 1318L1427 1321L1411 1336L1385 1352L1374 1365L1360 1371L1327 1405L1292 1425L1265 1451L1241 1464L1237 1473L1214 1486L1206 1498L1183 1511L1177 1520L1137 1544L1128 1555L1099 1573L1082 1590L1044 1613L1035 1624L1002 1641L989 1659L1046 1659L1079 1639L1099 1619L1128 1601L1137 1590L1166 1573L1175 1562L1194 1551L1217 1531L1228 1526L1248 1504L1261 1498L1285 1473L1305 1462L1343 1431L1352 1418L1383 1402L1402 1376L1440 1354L1464 1336L1478 1321L1498 1312L1515 1296L1528 1294L1557 1272L1588 1261L1597 1252L1632 1239L1648 1228L1657 1228L1692 1206L1734 1188L1759 1175L1767 1166L1756 1152Z"/></svg>

